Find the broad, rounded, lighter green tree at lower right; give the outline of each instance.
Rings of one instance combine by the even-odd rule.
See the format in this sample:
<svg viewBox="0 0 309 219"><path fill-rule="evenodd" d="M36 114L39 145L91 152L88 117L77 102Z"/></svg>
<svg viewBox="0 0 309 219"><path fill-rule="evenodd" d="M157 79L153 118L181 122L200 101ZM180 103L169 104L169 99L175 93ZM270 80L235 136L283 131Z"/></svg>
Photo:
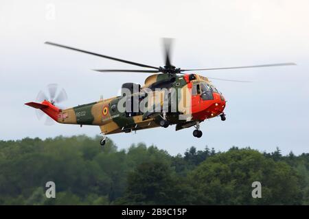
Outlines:
<svg viewBox="0 0 309 219"><path fill-rule="evenodd" d="M251 183L262 183L262 198L252 198ZM297 173L258 151L231 150L207 159L190 174L198 205L300 204Z"/></svg>

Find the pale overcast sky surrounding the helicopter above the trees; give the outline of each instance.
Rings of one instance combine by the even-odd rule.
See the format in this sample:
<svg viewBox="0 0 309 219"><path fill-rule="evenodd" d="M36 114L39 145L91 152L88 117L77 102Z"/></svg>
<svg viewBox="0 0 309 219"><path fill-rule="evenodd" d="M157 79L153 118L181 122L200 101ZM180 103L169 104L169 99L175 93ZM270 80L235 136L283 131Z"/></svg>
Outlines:
<svg viewBox="0 0 309 219"><path fill-rule="evenodd" d="M54 12L53 12L54 9ZM122 83L144 83L139 73L97 73L93 68L132 68L87 54L43 44L67 44L162 66L160 38L175 38L172 63L211 68L276 62L297 66L213 70L206 77L254 81L214 81L227 99L227 120L213 118L194 128L157 128L109 136L120 149L133 142L155 144L173 155L190 146L225 151L251 146L259 151L308 153L309 1L14 1L0 0L0 139L95 136L99 127L44 125L34 109L49 83L65 88L71 107L115 96ZM98 144L99 146L99 144Z"/></svg>

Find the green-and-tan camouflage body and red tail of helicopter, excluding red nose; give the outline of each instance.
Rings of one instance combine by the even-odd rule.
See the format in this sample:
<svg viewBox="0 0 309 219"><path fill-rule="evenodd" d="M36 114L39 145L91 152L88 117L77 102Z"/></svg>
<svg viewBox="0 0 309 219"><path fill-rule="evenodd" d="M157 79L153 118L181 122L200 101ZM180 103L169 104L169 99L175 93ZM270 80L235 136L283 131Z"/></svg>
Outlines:
<svg viewBox="0 0 309 219"><path fill-rule="evenodd" d="M141 87L141 91L145 89L152 90L153 98L148 99L145 112L137 112L134 114L119 111L117 105L123 98L122 96L115 96L98 102L78 105L65 110L59 110L48 101L46 101L47 103L43 102L43 104L33 102L26 104L43 110L43 112L54 118L58 123L98 125L100 126L101 132L108 135L159 127L159 121L162 120L162 112L151 112L151 110L153 110L153 107L156 105L160 107L163 105L164 90L156 89L176 88L176 90L178 90L178 92L174 94L176 95L176 111L167 112L166 118L170 124L183 125L190 122L192 119L192 117L190 117L192 108L190 84L192 85L192 83L190 82L205 81L206 83L210 83L206 77L200 75L194 75L192 79L189 79L189 77L190 75L150 75L150 77L146 78L145 85ZM49 106L47 107L44 104ZM53 109L56 112L52 112ZM189 116L181 118L179 115ZM179 128L176 128L176 130L178 129Z"/></svg>

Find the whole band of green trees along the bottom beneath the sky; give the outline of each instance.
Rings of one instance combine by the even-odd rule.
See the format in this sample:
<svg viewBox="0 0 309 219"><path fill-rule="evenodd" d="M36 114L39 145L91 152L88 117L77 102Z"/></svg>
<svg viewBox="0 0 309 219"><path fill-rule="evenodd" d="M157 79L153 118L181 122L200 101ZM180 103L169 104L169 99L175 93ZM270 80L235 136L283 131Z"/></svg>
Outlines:
<svg viewBox="0 0 309 219"><path fill-rule="evenodd" d="M172 156L142 143L102 149L99 140L0 141L0 205L309 205L308 153L192 146ZM47 181L56 198L46 198ZM262 198L251 196L253 181Z"/></svg>

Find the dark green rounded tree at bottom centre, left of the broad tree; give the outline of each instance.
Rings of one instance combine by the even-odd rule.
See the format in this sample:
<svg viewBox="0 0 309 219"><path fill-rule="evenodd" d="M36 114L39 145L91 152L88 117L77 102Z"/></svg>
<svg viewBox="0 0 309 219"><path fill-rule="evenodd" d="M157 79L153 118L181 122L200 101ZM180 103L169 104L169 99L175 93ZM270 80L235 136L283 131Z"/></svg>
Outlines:
<svg viewBox="0 0 309 219"><path fill-rule="evenodd" d="M140 164L128 175L128 188L118 203L129 205L176 205L187 203L190 188L164 162Z"/></svg>

